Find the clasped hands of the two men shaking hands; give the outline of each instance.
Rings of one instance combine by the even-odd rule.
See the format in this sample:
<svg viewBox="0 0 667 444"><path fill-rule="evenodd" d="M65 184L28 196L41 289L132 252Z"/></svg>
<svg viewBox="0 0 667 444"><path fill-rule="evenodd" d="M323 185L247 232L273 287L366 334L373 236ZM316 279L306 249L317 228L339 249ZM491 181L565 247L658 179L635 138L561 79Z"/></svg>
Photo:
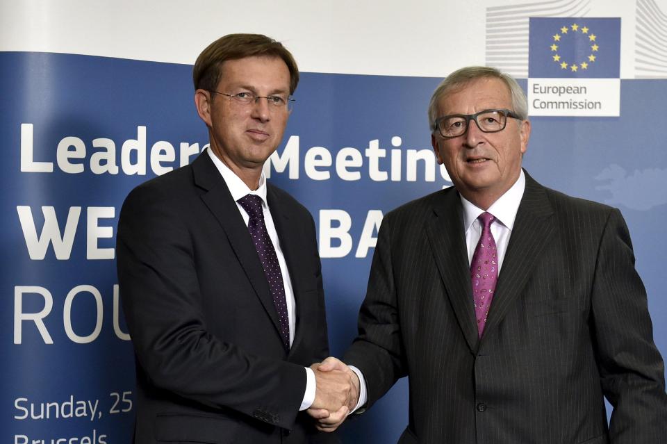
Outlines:
<svg viewBox="0 0 667 444"><path fill-rule="evenodd" d="M315 372L316 391L308 415L316 420L318 430L334 431L359 402L359 377L334 357L314 363L311 369Z"/></svg>

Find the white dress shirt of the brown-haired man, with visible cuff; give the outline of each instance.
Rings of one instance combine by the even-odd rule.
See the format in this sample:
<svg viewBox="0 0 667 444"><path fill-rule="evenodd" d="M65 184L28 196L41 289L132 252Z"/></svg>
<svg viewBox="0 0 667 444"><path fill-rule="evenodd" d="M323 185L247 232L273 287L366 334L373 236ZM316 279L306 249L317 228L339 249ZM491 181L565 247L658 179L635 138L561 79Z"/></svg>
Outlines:
<svg viewBox="0 0 667 444"><path fill-rule="evenodd" d="M244 197L245 195L257 195L262 198L262 211L264 213L264 223L266 224L266 231L269 233L269 238L273 244L274 249L276 250L276 256L278 256L278 263L280 265L280 273L283 277L283 284L285 287L285 302L287 304L287 315L290 322L290 345L294 342L294 333L296 329L296 303L294 299L294 291L292 289L292 281L290 280L290 274L287 271L287 263L285 261L285 256L280 247L280 240L278 239L278 232L276 231L276 226L273 223L273 217L271 217L271 211L266 201L266 177L262 172L262 175L259 178L259 186L256 190L251 190L245 184L244 181L240 179L232 170L229 169L222 161L220 161L211 149L208 149L208 156L211 156L211 160L217 170L220 171L222 179L227 183L227 188L231 193L232 199L236 202L236 208L238 208L239 213L243 217L243 221L246 226L250 220L250 216L246 213L245 209L238 203L238 199ZM310 368L306 368L306 393L304 394L304 400L301 404L299 410L308 409L313 404L315 400L315 373Z"/></svg>

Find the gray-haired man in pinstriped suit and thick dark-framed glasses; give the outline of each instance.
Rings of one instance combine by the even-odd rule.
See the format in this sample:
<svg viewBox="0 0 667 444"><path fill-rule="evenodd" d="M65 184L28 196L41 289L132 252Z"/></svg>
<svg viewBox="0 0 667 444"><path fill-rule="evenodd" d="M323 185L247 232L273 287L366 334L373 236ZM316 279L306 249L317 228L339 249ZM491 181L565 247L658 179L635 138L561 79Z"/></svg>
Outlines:
<svg viewBox="0 0 667 444"><path fill-rule="evenodd" d="M382 222L343 359L363 375L359 404L407 375L400 443L667 443L664 364L620 212L522 170L525 95L496 69L448 76L429 120L454 187Z"/></svg>

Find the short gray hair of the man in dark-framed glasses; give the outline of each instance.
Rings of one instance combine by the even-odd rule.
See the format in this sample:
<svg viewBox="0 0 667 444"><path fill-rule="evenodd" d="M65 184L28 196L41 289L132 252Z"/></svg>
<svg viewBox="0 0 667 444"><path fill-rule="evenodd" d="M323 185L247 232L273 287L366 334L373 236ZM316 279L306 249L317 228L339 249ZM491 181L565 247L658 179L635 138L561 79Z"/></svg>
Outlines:
<svg viewBox="0 0 667 444"><path fill-rule="evenodd" d="M438 85L438 88L433 92L431 101L429 102L429 128L431 131L436 130L435 124L436 118L438 118L436 115L436 107L441 97L470 81L488 77L500 79L507 85L512 96L512 108L514 108L514 113L516 113L521 120L526 120L528 118L528 101L526 100L526 94L512 76L492 67L468 66L457 69L452 72L452 74L445 77L445 79L440 82L440 85Z"/></svg>

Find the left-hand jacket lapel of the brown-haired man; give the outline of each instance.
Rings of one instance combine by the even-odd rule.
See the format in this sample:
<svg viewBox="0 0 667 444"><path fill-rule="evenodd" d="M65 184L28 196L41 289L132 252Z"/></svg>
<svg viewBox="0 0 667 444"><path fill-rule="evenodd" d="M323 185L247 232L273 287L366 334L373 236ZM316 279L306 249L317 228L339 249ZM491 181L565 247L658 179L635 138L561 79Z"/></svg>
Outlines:
<svg viewBox="0 0 667 444"><path fill-rule="evenodd" d="M201 199L222 225L252 288L254 288L277 331L280 332L278 313L273 303L264 269L236 202L234 202L229 188L227 188L227 183L224 182L220 172L213 165L213 161L206 152L199 155L192 163L192 172L195 176L195 184L206 190L201 195Z"/></svg>

